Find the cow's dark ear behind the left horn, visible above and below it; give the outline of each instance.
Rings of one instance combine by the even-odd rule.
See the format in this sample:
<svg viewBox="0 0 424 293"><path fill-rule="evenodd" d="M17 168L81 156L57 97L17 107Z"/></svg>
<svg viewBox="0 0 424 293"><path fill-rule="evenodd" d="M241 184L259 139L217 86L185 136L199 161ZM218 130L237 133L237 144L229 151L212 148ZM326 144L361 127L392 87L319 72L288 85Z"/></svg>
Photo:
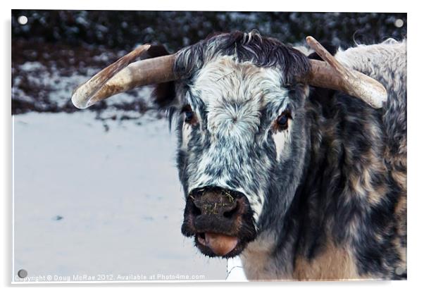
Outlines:
<svg viewBox="0 0 424 293"><path fill-rule="evenodd" d="M149 49L149 57L160 57L169 55L168 50L163 45L154 45ZM175 82L163 82L154 85L151 97L159 108L166 108L175 99Z"/></svg>

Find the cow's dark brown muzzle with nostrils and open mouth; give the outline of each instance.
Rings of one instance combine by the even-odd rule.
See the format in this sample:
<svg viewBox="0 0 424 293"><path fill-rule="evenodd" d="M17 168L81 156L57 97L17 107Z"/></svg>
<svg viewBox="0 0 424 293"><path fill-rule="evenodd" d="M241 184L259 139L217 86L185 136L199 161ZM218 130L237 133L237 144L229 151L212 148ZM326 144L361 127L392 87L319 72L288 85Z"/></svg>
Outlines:
<svg viewBox="0 0 424 293"><path fill-rule="evenodd" d="M219 187L194 189L187 198L182 234L194 236L208 256L239 254L256 236L247 197Z"/></svg>

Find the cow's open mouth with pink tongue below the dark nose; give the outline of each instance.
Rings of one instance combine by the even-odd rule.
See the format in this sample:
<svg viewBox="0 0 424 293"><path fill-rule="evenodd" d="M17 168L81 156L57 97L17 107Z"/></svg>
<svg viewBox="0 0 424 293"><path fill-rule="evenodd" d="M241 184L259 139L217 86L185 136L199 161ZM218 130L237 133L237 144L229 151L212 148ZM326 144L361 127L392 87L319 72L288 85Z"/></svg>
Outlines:
<svg viewBox="0 0 424 293"><path fill-rule="evenodd" d="M203 254L207 256L223 256L225 258L237 256L244 245L235 236L214 232L197 233L194 242Z"/></svg>

